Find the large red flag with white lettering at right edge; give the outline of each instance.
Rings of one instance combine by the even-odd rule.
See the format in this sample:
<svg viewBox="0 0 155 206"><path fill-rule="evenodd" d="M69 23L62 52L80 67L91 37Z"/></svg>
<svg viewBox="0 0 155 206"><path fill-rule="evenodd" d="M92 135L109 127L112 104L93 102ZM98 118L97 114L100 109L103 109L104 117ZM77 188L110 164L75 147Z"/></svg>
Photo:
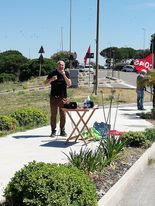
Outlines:
<svg viewBox="0 0 155 206"><path fill-rule="evenodd" d="M152 53L143 59L135 59L134 66L136 70L138 71L138 73L140 73L142 69L145 69L146 71L151 70L152 69Z"/></svg>

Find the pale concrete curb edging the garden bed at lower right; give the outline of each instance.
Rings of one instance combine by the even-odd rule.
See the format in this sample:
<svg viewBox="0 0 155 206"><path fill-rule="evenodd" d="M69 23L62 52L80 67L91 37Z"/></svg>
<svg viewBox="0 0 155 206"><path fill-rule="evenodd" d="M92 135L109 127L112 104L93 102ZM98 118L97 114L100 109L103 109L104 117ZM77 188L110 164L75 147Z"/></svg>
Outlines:
<svg viewBox="0 0 155 206"><path fill-rule="evenodd" d="M148 165L148 160L155 156L155 143L147 149L135 164L110 188L110 190L99 200L98 206L116 206L123 198L124 192L129 184L132 184L137 175L144 172Z"/></svg>

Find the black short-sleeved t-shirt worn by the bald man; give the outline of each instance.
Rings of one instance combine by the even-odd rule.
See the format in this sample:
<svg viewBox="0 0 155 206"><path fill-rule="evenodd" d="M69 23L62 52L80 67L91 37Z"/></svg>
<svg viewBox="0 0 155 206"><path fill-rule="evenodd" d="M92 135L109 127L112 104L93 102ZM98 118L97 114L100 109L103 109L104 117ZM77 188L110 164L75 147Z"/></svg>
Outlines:
<svg viewBox="0 0 155 206"><path fill-rule="evenodd" d="M69 73L65 71L67 78L70 78ZM57 76L57 80L51 82L51 96L56 97L67 97L67 84L62 76L57 70L51 72L47 79L50 79L53 76Z"/></svg>

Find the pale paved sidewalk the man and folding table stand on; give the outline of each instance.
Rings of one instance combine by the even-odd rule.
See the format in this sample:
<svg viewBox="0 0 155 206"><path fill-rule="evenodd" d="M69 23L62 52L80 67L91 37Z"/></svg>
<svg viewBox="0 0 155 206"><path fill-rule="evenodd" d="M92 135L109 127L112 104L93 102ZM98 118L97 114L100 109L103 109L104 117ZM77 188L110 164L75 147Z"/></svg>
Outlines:
<svg viewBox="0 0 155 206"><path fill-rule="evenodd" d="M148 111L152 108L151 104L145 107ZM105 109L106 116L109 109ZM149 122L139 119L136 115L138 113L135 105L119 106L111 110L111 129L119 131L142 131L145 128L152 127ZM116 122L115 117L117 114ZM77 118L73 112L73 118ZM95 111L88 127L92 127L94 122L104 122L103 108ZM115 128L113 128L115 122ZM73 125L69 118L67 118L66 132L70 134ZM59 131L58 131L59 132ZM83 141L70 141L65 145L66 138L56 136L50 138L50 126L41 127L38 129L28 130L25 132L18 132L7 137L0 138L0 200L3 199L3 191L10 178L21 167L30 161L43 161L65 163L69 151L79 151L81 147L85 147ZM89 142L87 145L92 149L98 146L98 142ZM64 154L65 153L65 154Z"/></svg>

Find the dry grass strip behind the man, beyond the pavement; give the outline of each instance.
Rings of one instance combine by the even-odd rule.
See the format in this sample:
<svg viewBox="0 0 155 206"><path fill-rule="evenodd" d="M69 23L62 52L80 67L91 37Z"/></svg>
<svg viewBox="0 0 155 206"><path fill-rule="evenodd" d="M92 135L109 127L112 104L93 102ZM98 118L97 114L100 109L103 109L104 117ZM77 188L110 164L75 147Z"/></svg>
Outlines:
<svg viewBox="0 0 155 206"><path fill-rule="evenodd" d="M44 78L45 79L45 78ZM37 88L37 84L43 86L43 78L40 80L32 79L29 82L23 83L7 83L0 84L0 114L9 114L15 110L23 107L37 107L49 112L49 94L50 88L46 87L42 90ZM41 84L42 83L42 84ZM31 86L30 86L31 85ZM31 90L30 88L35 87L36 89ZM26 87L27 89L24 89ZM21 88L23 88L21 90ZM89 95L91 100L95 104L102 105L102 100L104 104L109 103L110 97L112 95L112 88L103 88L98 91L98 95L92 94L93 88L89 87L79 87L79 88L68 88L68 96L70 101L84 102L86 97ZM4 91L4 93L2 93ZM8 92L6 92L8 91ZM114 90L114 100L115 104L117 101L119 103L135 103L136 102L136 92L133 89L115 89ZM103 96L102 96L103 95ZM119 100L118 100L119 96ZM149 101L147 95L145 95L145 100Z"/></svg>

